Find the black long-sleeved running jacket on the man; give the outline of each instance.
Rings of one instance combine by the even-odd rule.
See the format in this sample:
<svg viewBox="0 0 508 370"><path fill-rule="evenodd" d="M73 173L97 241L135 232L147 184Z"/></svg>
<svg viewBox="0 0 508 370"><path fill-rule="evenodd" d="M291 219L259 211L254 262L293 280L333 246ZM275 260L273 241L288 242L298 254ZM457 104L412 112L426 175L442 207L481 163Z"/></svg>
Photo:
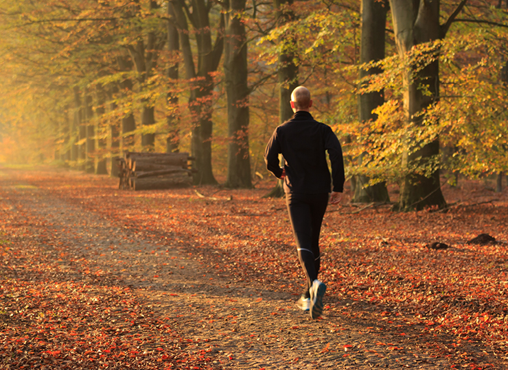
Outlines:
<svg viewBox="0 0 508 370"><path fill-rule="evenodd" d="M296 112L292 119L279 125L266 145L266 168L280 178L279 153L284 156L284 192L319 194L330 193L331 179L326 160L328 152L332 164L333 190L344 189L342 149L330 126L315 121L309 112Z"/></svg>

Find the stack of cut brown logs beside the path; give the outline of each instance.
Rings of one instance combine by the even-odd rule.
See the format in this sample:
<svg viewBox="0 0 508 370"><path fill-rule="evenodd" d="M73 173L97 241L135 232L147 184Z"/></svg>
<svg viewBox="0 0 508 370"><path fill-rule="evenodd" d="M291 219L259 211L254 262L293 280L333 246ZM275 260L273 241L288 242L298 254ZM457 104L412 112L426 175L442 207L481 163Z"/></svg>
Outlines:
<svg viewBox="0 0 508 370"><path fill-rule="evenodd" d="M189 186L192 169L188 153L139 153L128 151L118 158L119 188L154 190Z"/></svg>

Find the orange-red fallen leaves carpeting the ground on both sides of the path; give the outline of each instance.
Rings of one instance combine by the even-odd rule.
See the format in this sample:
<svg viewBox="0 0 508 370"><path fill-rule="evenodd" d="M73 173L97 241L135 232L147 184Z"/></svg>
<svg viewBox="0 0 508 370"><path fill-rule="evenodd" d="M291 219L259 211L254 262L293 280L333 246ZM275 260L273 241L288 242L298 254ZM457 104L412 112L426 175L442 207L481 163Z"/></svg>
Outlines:
<svg viewBox="0 0 508 370"><path fill-rule="evenodd" d="M109 188L104 180L102 186L93 186L93 181L98 180L92 178L80 177L75 181L73 177L63 180L55 177L42 181L28 175L25 180L43 186L56 199L80 204L86 212L96 214L97 219L115 223L125 230L126 243L134 243L138 238L150 243L154 249L137 249L139 256L157 256L161 266L168 269L184 269L185 265L165 257L162 251L181 248L189 258L200 262L205 282L218 276L273 291L295 295L301 292L304 278L289 221L285 212L279 212L284 210L283 199L262 199L265 190L227 190L227 195L232 195L231 201L210 203L192 189L115 195L116 182ZM210 188L200 190L200 194L223 199L226 195L220 191ZM23 356L12 356L19 361L37 353L38 364L58 356L58 360L74 361L79 366L84 363L90 368L94 361L114 368L134 360L145 361L147 369L184 367L181 364L185 362L179 360L189 364L196 361L195 366L200 368L212 366L204 354L185 358L174 347L181 343L181 338L170 334L170 328L161 326L149 310L143 310L142 302L137 301L132 291L108 280L104 271L97 271L93 261L67 255L65 245L58 245L51 232L47 232L50 225L31 219L21 208L16 207L20 213L15 220L8 214L10 208L2 209L5 209L2 215L7 214L5 217L12 221L5 223L0 234L2 269L5 276L10 276L1 280L0 294L4 295L7 310L0 309L8 315L3 311L0 315L8 324L1 327L0 338L2 341L13 338L3 343L3 351L8 351L5 353L9 356L20 353ZM434 356L449 356L465 352L467 343L481 343L507 354L506 246L467 244L467 240L487 230L496 240L508 240L506 204L463 206L447 213L395 214L388 208L345 213L329 212L323 222L320 276L328 286L327 302L332 302L326 304L325 315L334 310L346 320L369 318L372 320L369 325L379 326L369 326L367 331L396 334L400 343L393 343L393 339L377 343L391 351L406 350L407 343L421 345L418 343L425 343L428 338L438 341L449 336L454 345L446 348L429 345L426 351ZM14 234L28 236L32 230L40 233L30 242L30 251L25 253L13 247L25 243ZM76 240L79 238L76 235ZM430 240L446 240L453 248L428 249L425 245ZM57 258L37 251L36 243L58 251ZM115 250L119 248L122 247L116 246ZM27 260L32 264L26 264ZM78 279L59 282L56 275L69 261L79 274L89 276L94 283L84 284ZM59 262L63 262L61 266ZM118 271L126 271L120 261L117 264ZM34 280L15 280L14 276L21 273ZM178 299L176 293L168 295ZM346 302L358 305L345 306ZM253 303L264 305L265 301L255 297ZM64 319L58 313L60 307L80 314ZM274 317L281 314L284 314L281 310L272 312ZM301 328L288 327L295 331ZM161 330L165 336L160 335ZM148 336L135 335L137 332ZM349 344L342 349L347 352L345 355L360 350ZM30 355L30 351L34 354Z"/></svg>

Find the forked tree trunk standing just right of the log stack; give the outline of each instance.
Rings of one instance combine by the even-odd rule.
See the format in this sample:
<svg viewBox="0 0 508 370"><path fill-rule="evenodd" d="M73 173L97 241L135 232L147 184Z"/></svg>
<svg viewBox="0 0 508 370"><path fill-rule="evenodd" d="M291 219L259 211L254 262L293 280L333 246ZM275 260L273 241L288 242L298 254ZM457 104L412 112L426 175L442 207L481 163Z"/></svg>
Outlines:
<svg viewBox="0 0 508 370"><path fill-rule="evenodd" d="M191 151L196 158L194 184L216 184L217 180L213 176L211 166L213 129L211 114L213 112L212 93L214 87L211 74L217 71L222 56L224 15L221 15L216 42L212 44L209 23L211 8L204 0L192 0L190 7L185 5L184 0L172 0L170 3L173 6L175 24L180 36L185 77L194 82L189 98L189 110L193 119ZM196 31L197 69L194 64L187 19L190 19Z"/></svg>

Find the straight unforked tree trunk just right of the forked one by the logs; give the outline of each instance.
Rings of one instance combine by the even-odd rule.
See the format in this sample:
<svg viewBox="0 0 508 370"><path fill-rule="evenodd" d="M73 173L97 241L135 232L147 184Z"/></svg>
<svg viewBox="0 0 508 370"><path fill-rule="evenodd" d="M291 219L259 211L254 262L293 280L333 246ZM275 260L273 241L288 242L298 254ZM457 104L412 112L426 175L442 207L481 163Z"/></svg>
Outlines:
<svg viewBox="0 0 508 370"><path fill-rule="evenodd" d="M242 13L245 0L229 0L224 40L224 75L227 92L229 188L251 188L249 156L249 86L247 85L247 40Z"/></svg>

